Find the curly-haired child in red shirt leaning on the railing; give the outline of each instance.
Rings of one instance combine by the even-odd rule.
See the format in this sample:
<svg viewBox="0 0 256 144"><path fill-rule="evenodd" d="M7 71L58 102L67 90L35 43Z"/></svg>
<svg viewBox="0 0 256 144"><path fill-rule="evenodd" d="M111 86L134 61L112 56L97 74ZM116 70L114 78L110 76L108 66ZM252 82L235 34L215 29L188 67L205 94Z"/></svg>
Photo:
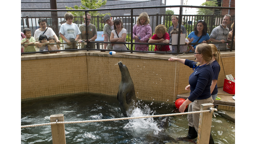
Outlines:
<svg viewBox="0 0 256 144"><path fill-rule="evenodd" d="M149 39L148 43L165 43L169 44L170 36L166 32L166 27L162 24L156 26L155 34ZM155 51L169 51L169 45L155 45Z"/></svg>

